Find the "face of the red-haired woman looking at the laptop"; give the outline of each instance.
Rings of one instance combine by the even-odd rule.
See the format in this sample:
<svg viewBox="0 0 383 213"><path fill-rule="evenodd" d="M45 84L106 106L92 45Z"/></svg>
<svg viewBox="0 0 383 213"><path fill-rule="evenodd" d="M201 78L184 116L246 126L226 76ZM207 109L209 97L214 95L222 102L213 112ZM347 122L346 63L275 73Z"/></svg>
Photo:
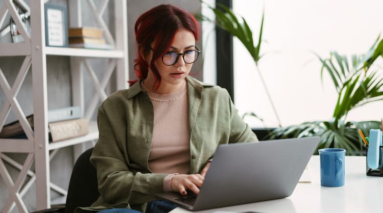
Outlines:
<svg viewBox="0 0 383 213"><path fill-rule="evenodd" d="M187 50L196 49L195 45L196 39L194 38L193 33L182 29L175 34L174 41L169 51L181 54ZM164 60L166 59L164 58ZM182 56L179 56L178 61L171 66L165 65L162 62L162 57L157 59L154 64L161 76L161 85L158 90L156 90L156 92L160 94L171 93L179 89L193 65L186 64Z"/></svg>

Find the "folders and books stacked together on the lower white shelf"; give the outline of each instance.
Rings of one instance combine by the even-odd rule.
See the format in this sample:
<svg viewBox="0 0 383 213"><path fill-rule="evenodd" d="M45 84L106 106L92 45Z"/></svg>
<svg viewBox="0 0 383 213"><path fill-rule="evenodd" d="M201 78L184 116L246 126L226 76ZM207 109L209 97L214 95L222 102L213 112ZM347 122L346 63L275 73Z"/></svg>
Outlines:
<svg viewBox="0 0 383 213"><path fill-rule="evenodd" d="M27 117L32 129L33 115ZM80 107L66 107L48 110L49 141L62 141L88 134L88 121L81 118ZM27 138L19 121L3 126L0 138Z"/></svg>

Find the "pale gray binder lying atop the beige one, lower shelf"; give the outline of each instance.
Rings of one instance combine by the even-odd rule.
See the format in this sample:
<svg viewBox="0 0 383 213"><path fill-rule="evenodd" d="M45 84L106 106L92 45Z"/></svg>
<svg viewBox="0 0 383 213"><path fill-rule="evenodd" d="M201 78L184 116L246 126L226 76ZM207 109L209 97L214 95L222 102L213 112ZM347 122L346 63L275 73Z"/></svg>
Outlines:
<svg viewBox="0 0 383 213"><path fill-rule="evenodd" d="M81 118L79 106L48 110L48 123Z"/></svg>

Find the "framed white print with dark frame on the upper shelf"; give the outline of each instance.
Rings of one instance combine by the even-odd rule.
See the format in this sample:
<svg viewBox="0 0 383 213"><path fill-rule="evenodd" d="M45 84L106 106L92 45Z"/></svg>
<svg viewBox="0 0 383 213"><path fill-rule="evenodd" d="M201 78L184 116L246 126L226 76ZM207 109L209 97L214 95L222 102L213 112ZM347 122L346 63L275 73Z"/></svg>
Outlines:
<svg viewBox="0 0 383 213"><path fill-rule="evenodd" d="M44 5L45 11L45 45L68 45L68 22L66 7L59 5Z"/></svg>

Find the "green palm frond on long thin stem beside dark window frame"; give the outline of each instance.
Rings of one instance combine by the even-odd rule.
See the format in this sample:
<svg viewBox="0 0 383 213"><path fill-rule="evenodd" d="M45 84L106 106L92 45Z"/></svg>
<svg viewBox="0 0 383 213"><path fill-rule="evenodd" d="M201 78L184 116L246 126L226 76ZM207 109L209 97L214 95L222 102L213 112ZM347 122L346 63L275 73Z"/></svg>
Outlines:
<svg viewBox="0 0 383 213"><path fill-rule="evenodd" d="M201 1L202 4L206 4L203 1ZM207 4L206 4L207 5ZM277 113L277 110L275 108L275 104L271 98L271 95L269 93L268 87L266 85L266 82L264 80L264 77L259 70L258 62L261 59L260 55L260 45L261 45L261 40L262 40L262 32L263 32L263 26L264 26L264 17L265 17L265 12L262 13L262 20L260 23L260 29L259 29L259 35L258 35L258 44L254 44L254 39L253 39L253 32L251 31L247 21L245 20L244 17L242 16L237 16L234 14L234 12L229 9L228 7L222 5L222 4L217 4L217 8L213 8L209 5L207 5L208 8L210 8L214 15L216 16L215 20L211 20L210 18L202 15L196 15L196 17L200 20L205 20L205 21L210 21L214 22L219 28L222 30L230 33L232 36L238 38L242 42L242 44L246 47L248 50L249 54L253 58L253 61L255 63L255 66L257 68L260 80L262 82L262 85L265 88L266 94L269 98L270 104L273 108L275 117L278 120L279 126L281 126L281 122Z"/></svg>

